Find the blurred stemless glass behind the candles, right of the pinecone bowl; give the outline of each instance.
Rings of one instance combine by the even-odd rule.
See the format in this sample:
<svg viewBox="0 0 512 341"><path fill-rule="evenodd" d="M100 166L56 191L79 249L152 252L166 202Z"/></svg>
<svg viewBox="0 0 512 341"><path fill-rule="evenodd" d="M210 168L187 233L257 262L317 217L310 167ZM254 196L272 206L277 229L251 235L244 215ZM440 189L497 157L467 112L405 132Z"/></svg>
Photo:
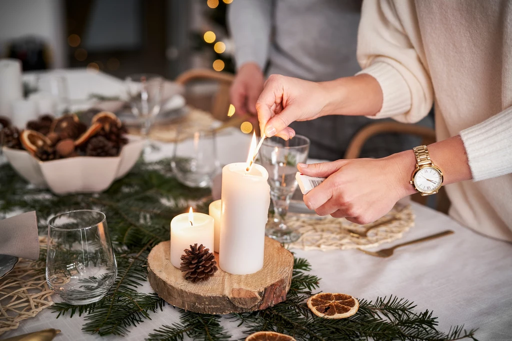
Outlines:
<svg viewBox="0 0 512 341"><path fill-rule="evenodd" d="M211 186L212 179L220 170L216 130L182 124L178 126L176 137L171 160L176 178L189 187Z"/></svg>

